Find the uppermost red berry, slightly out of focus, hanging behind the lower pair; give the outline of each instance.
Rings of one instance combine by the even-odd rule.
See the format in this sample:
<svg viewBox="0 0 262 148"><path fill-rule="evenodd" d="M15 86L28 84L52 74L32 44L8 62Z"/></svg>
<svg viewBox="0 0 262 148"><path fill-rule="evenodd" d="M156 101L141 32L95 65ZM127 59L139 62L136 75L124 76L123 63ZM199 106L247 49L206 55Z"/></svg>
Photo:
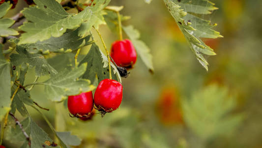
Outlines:
<svg viewBox="0 0 262 148"><path fill-rule="evenodd" d="M113 42L110 55L120 67L132 68L137 61L135 47L129 39Z"/></svg>

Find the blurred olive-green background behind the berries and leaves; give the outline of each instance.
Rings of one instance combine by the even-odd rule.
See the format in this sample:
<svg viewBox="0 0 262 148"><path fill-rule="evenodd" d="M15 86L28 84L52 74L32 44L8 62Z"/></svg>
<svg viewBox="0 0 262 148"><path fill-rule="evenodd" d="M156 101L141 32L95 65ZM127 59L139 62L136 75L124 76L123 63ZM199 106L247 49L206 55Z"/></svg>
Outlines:
<svg viewBox="0 0 262 148"><path fill-rule="evenodd" d="M112 0L110 5L123 5L120 13L131 16L123 25L138 29L151 49L154 74L138 59L122 78L119 109L85 122L71 118L64 103L48 101L42 86L34 87L32 99L50 109L43 112L58 131L82 138L76 148L262 148L262 1L211 1L219 9L202 18L217 23L224 38L204 39L217 53L207 57L208 72L162 0ZM118 39L106 25L100 31L107 47ZM31 82L34 71L27 76ZM41 115L28 109L52 136Z"/></svg>

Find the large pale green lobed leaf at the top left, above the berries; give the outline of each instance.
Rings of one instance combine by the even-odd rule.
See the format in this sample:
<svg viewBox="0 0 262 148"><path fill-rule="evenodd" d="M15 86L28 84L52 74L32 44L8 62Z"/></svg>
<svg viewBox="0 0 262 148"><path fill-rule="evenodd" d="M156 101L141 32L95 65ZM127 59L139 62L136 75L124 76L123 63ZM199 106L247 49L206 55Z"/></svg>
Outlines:
<svg viewBox="0 0 262 148"><path fill-rule="evenodd" d="M25 8L22 11L29 22L20 27L26 33L20 37L19 44L60 37L66 32L66 29L78 28L83 22L89 26L96 25L96 14L100 13L109 1L99 0L94 6L87 7L78 14L68 14L56 0L34 0L36 6ZM83 33L83 36L86 35L86 32L87 30L80 28L79 34Z"/></svg>

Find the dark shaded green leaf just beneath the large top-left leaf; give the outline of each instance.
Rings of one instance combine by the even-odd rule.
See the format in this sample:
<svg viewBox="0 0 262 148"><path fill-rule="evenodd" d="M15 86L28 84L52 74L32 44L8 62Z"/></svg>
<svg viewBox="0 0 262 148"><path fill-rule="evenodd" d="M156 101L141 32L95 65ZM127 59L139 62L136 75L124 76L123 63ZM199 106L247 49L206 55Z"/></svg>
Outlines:
<svg viewBox="0 0 262 148"><path fill-rule="evenodd" d="M23 45L29 53L71 52L90 44L90 36L79 37L79 30L67 32L61 37L50 37L44 41Z"/></svg>

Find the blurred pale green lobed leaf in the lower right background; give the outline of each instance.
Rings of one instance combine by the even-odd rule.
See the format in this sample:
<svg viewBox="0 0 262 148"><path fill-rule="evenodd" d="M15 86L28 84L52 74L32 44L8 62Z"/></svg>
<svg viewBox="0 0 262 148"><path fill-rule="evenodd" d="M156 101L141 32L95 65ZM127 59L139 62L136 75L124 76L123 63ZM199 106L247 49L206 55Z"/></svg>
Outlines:
<svg viewBox="0 0 262 148"><path fill-rule="evenodd" d="M235 106L227 89L216 85L207 86L182 102L187 126L205 140L231 133L241 123L242 114L231 114Z"/></svg>

